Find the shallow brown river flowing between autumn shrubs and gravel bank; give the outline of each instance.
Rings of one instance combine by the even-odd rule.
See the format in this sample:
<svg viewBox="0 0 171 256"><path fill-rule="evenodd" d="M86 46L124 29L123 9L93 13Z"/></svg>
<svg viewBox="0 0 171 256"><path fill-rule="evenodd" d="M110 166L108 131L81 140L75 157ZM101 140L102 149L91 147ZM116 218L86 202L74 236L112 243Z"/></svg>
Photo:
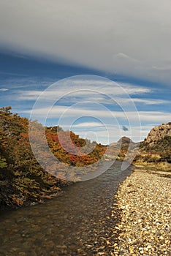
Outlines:
<svg viewBox="0 0 171 256"><path fill-rule="evenodd" d="M130 173L116 161L101 176L64 187L45 204L1 213L0 255L112 255L114 195Z"/></svg>

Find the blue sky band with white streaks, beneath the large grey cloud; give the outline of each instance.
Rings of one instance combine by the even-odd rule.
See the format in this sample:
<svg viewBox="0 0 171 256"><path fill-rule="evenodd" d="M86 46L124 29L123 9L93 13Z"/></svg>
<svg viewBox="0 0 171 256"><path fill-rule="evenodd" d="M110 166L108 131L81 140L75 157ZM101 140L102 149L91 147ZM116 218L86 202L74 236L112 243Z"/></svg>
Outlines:
<svg viewBox="0 0 171 256"><path fill-rule="evenodd" d="M45 108L51 106L51 103L48 105L49 100L53 102L54 99L57 101L58 97L62 97L58 102L52 103L53 110L45 123L47 126L60 124L64 129L72 129L83 138L98 140L101 143L108 143L109 140L111 143L123 135L132 137L134 141L140 140L153 126L170 121L170 88L168 86L149 84L145 80L135 80L123 75L114 76L95 69L55 63L32 56L20 56L20 54L7 53L7 51L1 53L0 56L2 60L0 64L1 107L11 105L12 110L19 113L20 116L29 118L39 94L57 82L55 89L50 90L49 94L46 92L47 95L42 99L42 105L39 105L39 110L37 109L34 115L44 124ZM81 79L80 82L77 82L76 87L67 79L75 75L78 76L77 79ZM90 85L85 81L83 88L79 88L88 91L77 91L77 85L83 83L83 75L96 75L96 83ZM114 80L121 88L127 90L136 108L133 111L137 110L140 115L140 122L134 112L129 120L121 118L124 113L129 111L130 100L127 98L127 94L124 95L121 88L114 89L115 84L101 80L101 77ZM58 83L64 78L68 83ZM100 92L100 89L103 91ZM68 95L70 91L74 92ZM55 97L53 97L54 95ZM121 102L121 106L118 106L110 98L113 97L114 101L117 101L118 95L120 99L123 98L123 102L126 99L129 100L124 110L121 109L124 108L123 102ZM86 103L84 103L85 101ZM95 103L99 103L99 105L95 105ZM103 106L106 109L102 109ZM62 121L59 122L61 115L69 108L71 108L70 112L66 113ZM114 117L107 116L108 110L113 112ZM115 117L117 121L115 121ZM134 122L132 127L130 127L130 121ZM128 128L128 131L123 131L123 125ZM110 138L108 138L108 133Z"/></svg>

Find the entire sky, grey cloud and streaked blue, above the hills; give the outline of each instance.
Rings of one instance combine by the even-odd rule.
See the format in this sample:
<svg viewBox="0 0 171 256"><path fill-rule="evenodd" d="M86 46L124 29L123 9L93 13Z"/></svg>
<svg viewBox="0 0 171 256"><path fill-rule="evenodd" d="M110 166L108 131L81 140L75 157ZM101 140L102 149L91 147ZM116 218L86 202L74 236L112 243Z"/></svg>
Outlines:
<svg viewBox="0 0 171 256"><path fill-rule="evenodd" d="M171 121L170 12L170 0L1 1L0 107L99 143L143 140Z"/></svg>

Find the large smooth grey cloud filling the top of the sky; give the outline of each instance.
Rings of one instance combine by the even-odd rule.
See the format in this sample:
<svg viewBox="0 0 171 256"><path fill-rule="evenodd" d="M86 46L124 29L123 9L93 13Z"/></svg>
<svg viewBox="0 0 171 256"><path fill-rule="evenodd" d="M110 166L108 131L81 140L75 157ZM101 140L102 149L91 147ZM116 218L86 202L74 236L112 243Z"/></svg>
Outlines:
<svg viewBox="0 0 171 256"><path fill-rule="evenodd" d="M1 45L170 84L170 0L1 1Z"/></svg>

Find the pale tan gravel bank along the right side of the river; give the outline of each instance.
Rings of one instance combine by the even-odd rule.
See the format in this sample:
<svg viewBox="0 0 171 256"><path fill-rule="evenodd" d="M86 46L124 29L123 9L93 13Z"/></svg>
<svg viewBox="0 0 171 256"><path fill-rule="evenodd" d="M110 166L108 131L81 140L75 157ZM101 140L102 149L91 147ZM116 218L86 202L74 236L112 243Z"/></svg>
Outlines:
<svg viewBox="0 0 171 256"><path fill-rule="evenodd" d="M136 168L120 185L115 255L171 255L171 173Z"/></svg>

